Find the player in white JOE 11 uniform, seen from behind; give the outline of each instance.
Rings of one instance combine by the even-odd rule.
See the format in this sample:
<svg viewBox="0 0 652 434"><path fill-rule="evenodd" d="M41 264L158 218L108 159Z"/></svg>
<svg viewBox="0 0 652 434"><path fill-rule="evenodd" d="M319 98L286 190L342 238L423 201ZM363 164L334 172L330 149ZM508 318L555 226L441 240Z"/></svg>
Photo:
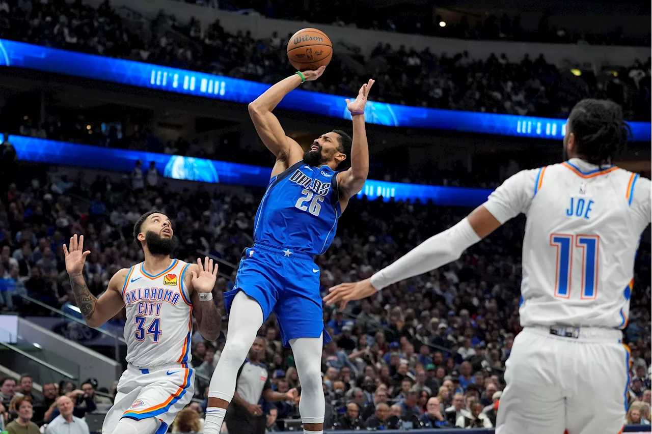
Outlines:
<svg viewBox="0 0 652 434"><path fill-rule="evenodd" d="M652 182L612 166L628 135L617 104L582 100L566 124L563 163L516 173L467 218L371 278L331 288L324 301L343 309L456 261L524 213L524 329L506 363L496 433L622 432L629 349L621 329L638 242L652 220Z"/></svg>

